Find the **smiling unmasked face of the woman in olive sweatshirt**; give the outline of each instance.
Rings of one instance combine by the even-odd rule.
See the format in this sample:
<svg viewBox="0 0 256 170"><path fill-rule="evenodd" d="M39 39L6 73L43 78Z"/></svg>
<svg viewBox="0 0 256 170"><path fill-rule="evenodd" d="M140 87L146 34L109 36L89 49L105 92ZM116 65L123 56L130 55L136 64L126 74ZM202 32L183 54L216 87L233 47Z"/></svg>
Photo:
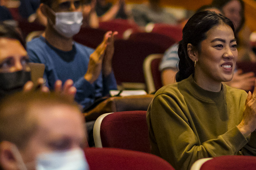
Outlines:
<svg viewBox="0 0 256 170"><path fill-rule="evenodd" d="M237 60L232 28L220 24L206 32L197 52L195 75L200 81L219 83L232 80Z"/></svg>

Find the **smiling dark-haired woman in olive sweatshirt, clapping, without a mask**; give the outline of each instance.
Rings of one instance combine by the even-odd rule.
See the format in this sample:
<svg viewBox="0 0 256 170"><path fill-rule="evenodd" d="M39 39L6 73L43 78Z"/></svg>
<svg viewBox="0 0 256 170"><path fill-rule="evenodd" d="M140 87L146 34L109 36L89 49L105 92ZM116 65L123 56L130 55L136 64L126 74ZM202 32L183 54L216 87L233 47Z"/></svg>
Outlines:
<svg viewBox="0 0 256 170"><path fill-rule="evenodd" d="M179 43L176 84L156 92L147 112L152 153L176 170L201 158L256 155L256 90L222 84L237 60L234 25L215 12L193 15Z"/></svg>

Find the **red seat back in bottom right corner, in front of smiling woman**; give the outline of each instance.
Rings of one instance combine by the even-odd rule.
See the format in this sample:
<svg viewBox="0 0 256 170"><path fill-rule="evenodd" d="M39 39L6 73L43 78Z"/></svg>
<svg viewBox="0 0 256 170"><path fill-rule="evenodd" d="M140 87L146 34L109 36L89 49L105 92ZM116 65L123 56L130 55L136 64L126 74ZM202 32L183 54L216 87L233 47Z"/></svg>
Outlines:
<svg viewBox="0 0 256 170"><path fill-rule="evenodd" d="M256 170L256 157L229 155L206 161L200 170Z"/></svg>

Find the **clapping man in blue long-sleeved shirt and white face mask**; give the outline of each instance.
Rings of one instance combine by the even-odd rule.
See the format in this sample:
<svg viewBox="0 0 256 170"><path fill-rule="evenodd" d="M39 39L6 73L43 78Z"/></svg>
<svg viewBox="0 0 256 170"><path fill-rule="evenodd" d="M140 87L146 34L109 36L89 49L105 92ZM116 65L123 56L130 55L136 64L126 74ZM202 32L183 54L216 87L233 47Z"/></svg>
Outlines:
<svg viewBox="0 0 256 170"><path fill-rule="evenodd" d="M30 61L45 65L44 78L50 89L61 84L57 80L72 80L77 89L75 101L89 108L95 99L117 88L111 65L117 33L107 32L94 51L73 41L82 24L81 1L41 0L39 8L47 17L47 27L41 37L27 43Z"/></svg>

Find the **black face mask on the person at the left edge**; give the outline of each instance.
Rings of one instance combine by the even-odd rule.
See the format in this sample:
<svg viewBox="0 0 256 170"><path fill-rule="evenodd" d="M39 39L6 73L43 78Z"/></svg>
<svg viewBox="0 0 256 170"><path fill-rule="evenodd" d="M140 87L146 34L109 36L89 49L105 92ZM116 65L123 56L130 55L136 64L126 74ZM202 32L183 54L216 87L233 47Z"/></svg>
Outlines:
<svg viewBox="0 0 256 170"><path fill-rule="evenodd" d="M24 70L12 73L0 73L0 98L22 91L23 86L30 80L30 72Z"/></svg>

